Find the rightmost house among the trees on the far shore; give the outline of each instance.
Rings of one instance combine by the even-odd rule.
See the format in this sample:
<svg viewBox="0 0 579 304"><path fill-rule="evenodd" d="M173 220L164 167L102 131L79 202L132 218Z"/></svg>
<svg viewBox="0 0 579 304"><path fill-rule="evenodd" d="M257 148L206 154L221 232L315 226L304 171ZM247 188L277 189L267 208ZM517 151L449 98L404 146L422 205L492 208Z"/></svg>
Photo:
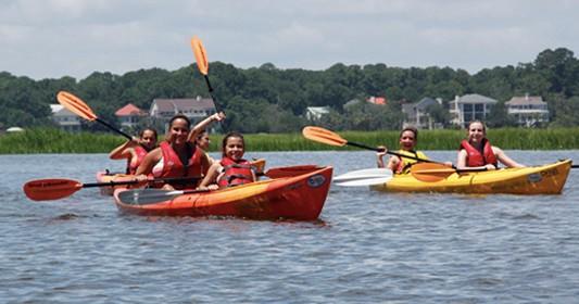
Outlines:
<svg viewBox="0 0 579 304"><path fill-rule="evenodd" d="M540 96L513 97L505 102L506 113L513 115L519 126L531 127L549 123L546 102Z"/></svg>

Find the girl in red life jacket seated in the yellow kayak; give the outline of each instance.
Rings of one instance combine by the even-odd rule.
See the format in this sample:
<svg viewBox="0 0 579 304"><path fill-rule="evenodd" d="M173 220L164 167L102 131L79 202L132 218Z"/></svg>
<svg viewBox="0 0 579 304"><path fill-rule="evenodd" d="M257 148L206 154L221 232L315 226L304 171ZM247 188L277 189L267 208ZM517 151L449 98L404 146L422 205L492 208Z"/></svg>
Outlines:
<svg viewBox="0 0 579 304"><path fill-rule="evenodd" d="M468 124L467 139L461 142L456 157L456 168L487 168L496 169L499 162L509 168L520 168L524 165L513 161L505 152L491 145L487 139L487 127L480 121Z"/></svg>

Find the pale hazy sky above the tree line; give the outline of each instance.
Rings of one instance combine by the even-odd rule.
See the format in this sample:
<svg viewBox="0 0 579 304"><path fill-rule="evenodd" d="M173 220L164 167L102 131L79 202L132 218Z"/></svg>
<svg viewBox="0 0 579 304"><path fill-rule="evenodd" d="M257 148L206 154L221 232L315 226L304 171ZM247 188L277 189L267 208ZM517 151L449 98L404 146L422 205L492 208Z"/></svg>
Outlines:
<svg viewBox="0 0 579 304"><path fill-rule="evenodd" d="M34 79L194 62L482 68L579 52L579 1L0 0L0 72ZM211 64L210 64L211 74Z"/></svg>

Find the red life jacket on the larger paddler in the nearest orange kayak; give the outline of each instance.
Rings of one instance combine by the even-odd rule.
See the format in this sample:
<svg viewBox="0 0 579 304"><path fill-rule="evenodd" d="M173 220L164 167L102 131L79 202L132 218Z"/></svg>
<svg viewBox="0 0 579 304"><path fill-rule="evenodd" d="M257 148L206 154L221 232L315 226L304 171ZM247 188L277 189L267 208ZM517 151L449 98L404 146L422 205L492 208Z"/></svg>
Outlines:
<svg viewBox="0 0 579 304"><path fill-rule="evenodd" d="M171 143L163 141L159 145L163 153L163 170L158 177L198 177L198 179L191 179L189 182L169 182L175 189L197 187L200 181L199 177L206 172L206 168L203 168L203 164L201 163L204 152L194 144L187 144L191 151L191 155L186 165L182 164L179 155L171 147Z"/></svg>

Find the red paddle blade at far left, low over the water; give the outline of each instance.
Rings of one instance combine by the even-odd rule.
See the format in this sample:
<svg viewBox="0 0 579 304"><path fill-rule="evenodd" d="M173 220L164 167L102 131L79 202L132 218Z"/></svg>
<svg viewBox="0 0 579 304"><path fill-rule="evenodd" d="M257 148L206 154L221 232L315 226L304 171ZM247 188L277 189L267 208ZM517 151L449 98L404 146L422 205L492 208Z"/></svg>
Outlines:
<svg viewBox="0 0 579 304"><path fill-rule="evenodd" d="M70 197L80 188L83 185L76 180L47 178L30 180L24 183L23 190L30 200L50 201Z"/></svg>

